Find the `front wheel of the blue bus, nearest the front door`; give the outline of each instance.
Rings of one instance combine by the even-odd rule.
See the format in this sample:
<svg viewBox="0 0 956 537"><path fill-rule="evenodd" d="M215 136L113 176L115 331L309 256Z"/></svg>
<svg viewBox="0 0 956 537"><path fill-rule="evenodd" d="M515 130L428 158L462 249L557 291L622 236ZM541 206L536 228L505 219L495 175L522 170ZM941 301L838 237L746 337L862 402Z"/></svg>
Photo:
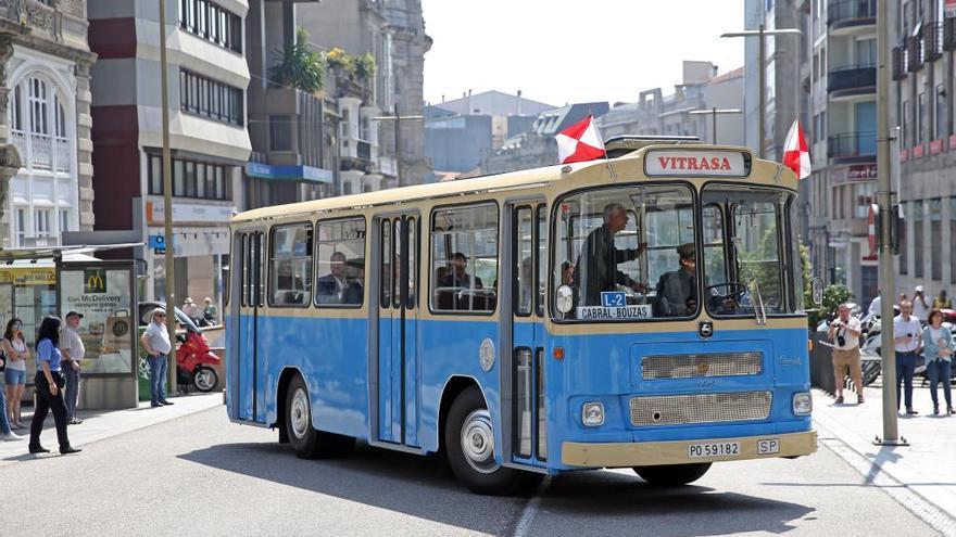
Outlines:
<svg viewBox="0 0 956 537"><path fill-rule="evenodd" d="M449 409L444 444L449 466L473 493L519 494L541 481L539 474L505 468L494 461L491 415L477 386L465 388Z"/></svg>

